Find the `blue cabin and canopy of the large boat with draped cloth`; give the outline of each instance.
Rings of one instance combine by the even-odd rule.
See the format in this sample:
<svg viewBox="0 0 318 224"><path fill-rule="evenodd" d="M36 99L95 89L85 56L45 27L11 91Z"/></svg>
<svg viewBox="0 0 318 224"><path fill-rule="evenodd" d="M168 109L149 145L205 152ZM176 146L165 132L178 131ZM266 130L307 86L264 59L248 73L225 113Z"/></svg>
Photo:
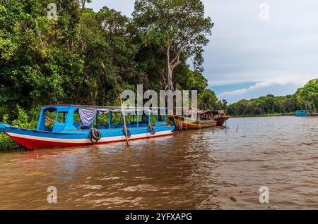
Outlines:
<svg viewBox="0 0 318 224"><path fill-rule="evenodd" d="M39 122L37 123L37 130L60 132L63 130L79 130L82 127L86 128L92 126L95 122L98 126L98 115L108 114L108 124L107 128L114 128L112 124L112 113L124 113L124 116L131 115L136 120L136 127L139 127L139 116L143 116L141 123L151 122L151 113L157 111L155 125L164 125L166 108L140 108L140 107L120 107L120 106L83 106L83 105L47 105L41 106L41 113ZM47 124L46 113L53 113L51 117L48 118L49 124ZM76 119L74 116L76 115ZM78 119L79 117L79 119ZM53 124L53 127L50 126ZM105 124L100 125L106 127ZM120 125L117 125L119 127Z"/></svg>

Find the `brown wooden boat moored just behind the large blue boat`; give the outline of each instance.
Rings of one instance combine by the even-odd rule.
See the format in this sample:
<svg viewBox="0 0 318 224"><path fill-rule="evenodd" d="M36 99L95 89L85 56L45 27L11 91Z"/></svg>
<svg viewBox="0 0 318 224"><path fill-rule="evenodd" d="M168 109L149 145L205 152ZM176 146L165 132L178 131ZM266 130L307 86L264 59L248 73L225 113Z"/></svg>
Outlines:
<svg viewBox="0 0 318 224"><path fill-rule="evenodd" d="M198 112L197 118L189 116L169 116L175 123L177 130L197 130L201 128L216 127L216 120L213 120L211 111Z"/></svg>

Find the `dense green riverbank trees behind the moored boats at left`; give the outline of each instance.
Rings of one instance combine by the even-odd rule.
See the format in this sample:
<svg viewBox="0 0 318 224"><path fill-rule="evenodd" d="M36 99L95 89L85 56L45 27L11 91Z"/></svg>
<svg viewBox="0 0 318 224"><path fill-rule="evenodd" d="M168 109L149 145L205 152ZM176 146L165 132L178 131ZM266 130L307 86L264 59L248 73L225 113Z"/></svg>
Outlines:
<svg viewBox="0 0 318 224"><path fill-rule="evenodd" d="M139 84L195 89L200 108L220 104L202 75L213 23L200 0L136 0L131 18L87 2L0 1L0 120L16 118L17 105L118 105Z"/></svg>

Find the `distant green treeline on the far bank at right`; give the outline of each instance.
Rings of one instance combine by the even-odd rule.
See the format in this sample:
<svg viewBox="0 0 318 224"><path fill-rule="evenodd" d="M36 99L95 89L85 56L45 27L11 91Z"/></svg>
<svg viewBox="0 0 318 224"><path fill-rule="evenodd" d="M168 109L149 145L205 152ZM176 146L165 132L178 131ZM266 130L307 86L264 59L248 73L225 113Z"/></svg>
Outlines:
<svg viewBox="0 0 318 224"><path fill-rule="evenodd" d="M226 107L228 113L233 116L257 116L275 113L293 113L296 110L318 109L318 79L298 89L293 95L275 97L271 94L251 100L240 100Z"/></svg>

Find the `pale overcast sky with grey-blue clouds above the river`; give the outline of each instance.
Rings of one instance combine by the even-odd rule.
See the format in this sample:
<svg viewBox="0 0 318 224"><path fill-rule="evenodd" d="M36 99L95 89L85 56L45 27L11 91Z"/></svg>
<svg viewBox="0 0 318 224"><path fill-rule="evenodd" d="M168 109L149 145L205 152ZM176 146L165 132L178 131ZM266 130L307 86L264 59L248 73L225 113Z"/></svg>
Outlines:
<svg viewBox="0 0 318 224"><path fill-rule="evenodd" d="M219 98L235 102L293 94L318 77L318 1L203 0L215 23L204 76ZM269 6L268 20L266 8ZM134 0L93 0L131 16ZM263 6L263 7L260 7ZM264 13L265 12L265 13Z"/></svg>

